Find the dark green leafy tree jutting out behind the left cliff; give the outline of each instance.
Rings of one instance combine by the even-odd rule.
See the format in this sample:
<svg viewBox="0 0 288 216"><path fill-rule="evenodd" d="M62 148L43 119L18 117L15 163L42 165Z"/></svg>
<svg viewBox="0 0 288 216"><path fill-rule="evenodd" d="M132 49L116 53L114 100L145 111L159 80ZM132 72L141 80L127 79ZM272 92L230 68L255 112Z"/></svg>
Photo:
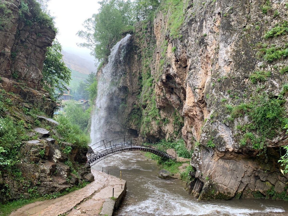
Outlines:
<svg viewBox="0 0 288 216"><path fill-rule="evenodd" d="M46 60L43 62L42 70L42 82L44 88L48 90L50 95L56 99L59 96L58 90L61 94L64 90L67 90L71 79L71 71L66 67L61 54L62 47L60 43L55 39L51 47L47 47ZM55 92L55 90L57 92Z"/></svg>

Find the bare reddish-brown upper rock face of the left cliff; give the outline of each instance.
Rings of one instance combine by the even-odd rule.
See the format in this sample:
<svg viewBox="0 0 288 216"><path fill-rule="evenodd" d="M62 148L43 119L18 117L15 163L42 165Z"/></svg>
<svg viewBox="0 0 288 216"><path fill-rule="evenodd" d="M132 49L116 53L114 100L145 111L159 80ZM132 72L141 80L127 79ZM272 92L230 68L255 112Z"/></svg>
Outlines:
<svg viewBox="0 0 288 216"><path fill-rule="evenodd" d="M52 45L55 32L44 24L25 24L19 17L20 2L5 1L11 13L3 17L8 24L0 29L0 87L16 95L10 99L19 107L25 101L52 115L56 103L50 99L40 81L46 47ZM24 107L30 108L29 105Z"/></svg>

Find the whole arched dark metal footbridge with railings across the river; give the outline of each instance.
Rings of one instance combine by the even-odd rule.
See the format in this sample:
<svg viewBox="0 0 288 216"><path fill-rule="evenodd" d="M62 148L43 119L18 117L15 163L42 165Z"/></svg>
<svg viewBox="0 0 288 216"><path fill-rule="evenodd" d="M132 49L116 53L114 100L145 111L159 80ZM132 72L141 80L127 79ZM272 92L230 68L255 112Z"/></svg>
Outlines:
<svg viewBox="0 0 288 216"><path fill-rule="evenodd" d="M90 146L87 158L90 166L111 155L125 151L147 151L162 158L176 160L176 149L162 141L139 136L117 136L103 139ZM167 153L167 149L169 153Z"/></svg>

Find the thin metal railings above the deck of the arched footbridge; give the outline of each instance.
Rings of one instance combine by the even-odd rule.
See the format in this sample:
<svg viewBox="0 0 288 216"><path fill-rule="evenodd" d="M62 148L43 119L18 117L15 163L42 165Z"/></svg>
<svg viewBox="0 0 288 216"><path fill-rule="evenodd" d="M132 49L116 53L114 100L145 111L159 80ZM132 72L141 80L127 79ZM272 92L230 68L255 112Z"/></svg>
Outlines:
<svg viewBox="0 0 288 216"><path fill-rule="evenodd" d="M87 153L94 154L96 152L105 152L105 151L113 151L115 147L128 147L128 146L141 146L141 147L148 147L148 148L154 148L158 149L159 151L166 152L166 154L169 154L173 156L173 158L177 158L176 149L160 140L147 138L147 137L141 137L141 136L129 136L129 135L123 135L123 136L116 136L116 137L110 137L107 139L103 139L90 147L92 148L91 151ZM171 149L169 152L167 152L168 149Z"/></svg>

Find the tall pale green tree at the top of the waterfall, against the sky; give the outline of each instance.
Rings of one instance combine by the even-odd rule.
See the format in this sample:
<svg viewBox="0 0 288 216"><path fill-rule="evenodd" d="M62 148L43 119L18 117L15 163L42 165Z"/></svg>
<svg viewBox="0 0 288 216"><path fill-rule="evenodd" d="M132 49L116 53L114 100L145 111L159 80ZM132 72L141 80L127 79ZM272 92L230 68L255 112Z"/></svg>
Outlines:
<svg viewBox="0 0 288 216"><path fill-rule="evenodd" d="M87 41L79 46L89 48L95 58L104 60L110 54L110 48L121 38L122 29L134 21L129 0L101 1L99 4L99 13L84 22L87 31L78 31L77 35Z"/></svg>

